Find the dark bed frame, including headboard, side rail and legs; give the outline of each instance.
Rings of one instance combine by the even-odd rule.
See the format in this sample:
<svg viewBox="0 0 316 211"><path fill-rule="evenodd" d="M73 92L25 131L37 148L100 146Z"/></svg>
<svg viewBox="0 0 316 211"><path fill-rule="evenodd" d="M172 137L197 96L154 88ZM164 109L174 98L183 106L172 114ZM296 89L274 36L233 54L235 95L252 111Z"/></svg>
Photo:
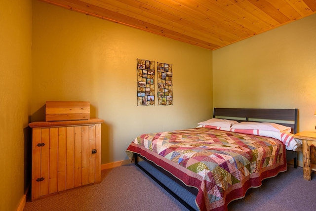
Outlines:
<svg viewBox="0 0 316 211"><path fill-rule="evenodd" d="M214 108L213 118L235 120L237 122L271 122L284 125L292 128L292 133L297 133L297 121L298 121L298 109L243 109L243 108ZM163 172L169 178L177 182L183 188L197 195L198 190L194 187L188 187L184 185L179 179L174 177L168 171L156 166L153 162L147 160L145 157L134 153L135 165L149 175L154 181L156 181L163 189L171 194L176 200L184 205L188 210L195 211L187 202L180 198L176 193L170 190L162 182L160 182L154 175L144 169L138 164L138 157ZM286 150L286 161L289 162L294 159L294 168L297 168L297 152Z"/></svg>

